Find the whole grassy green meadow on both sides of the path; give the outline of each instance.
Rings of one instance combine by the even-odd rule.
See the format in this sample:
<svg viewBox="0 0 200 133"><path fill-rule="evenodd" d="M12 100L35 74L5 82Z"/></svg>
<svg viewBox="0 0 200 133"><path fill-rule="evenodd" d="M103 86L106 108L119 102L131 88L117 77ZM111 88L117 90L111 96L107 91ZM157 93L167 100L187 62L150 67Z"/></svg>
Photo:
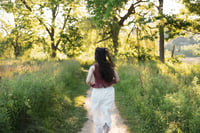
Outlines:
<svg viewBox="0 0 200 133"><path fill-rule="evenodd" d="M80 131L87 120L84 69L92 63L4 60L0 132ZM199 68L199 64L118 61L116 105L130 133L200 132Z"/></svg>

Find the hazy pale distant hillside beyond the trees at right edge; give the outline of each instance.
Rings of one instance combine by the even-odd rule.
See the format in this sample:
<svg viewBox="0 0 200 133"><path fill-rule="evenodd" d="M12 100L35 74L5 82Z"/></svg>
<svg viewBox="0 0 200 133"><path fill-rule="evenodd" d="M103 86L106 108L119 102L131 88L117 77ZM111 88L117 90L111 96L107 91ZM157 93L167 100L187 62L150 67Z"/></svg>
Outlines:
<svg viewBox="0 0 200 133"><path fill-rule="evenodd" d="M175 55L182 54L186 57L200 55L200 35L172 39L166 43L165 49L172 51L173 45L175 45Z"/></svg>

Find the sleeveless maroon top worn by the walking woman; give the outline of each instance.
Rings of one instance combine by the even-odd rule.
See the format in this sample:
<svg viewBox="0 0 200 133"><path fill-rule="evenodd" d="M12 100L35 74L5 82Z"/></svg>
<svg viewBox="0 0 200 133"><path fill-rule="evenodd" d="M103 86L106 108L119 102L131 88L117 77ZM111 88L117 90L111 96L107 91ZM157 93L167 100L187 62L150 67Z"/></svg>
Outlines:
<svg viewBox="0 0 200 133"><path fill-rule="evenodd" d="M93 74L94 74L94 79L95 79L95 83L91 86L93 88L106 88L116 83L116 79L113 79L113 81L111 82L106 82L105 80L103 80L103 78L101 77L101 74L99 73L98 64L94 64Z"/></svg>

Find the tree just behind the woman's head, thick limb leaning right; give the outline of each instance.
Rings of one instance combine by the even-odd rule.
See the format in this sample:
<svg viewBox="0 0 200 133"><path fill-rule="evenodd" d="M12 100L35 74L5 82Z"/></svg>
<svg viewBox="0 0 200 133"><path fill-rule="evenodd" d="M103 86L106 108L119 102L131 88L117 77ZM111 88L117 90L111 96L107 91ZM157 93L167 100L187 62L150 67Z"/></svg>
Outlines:
<svg viewBox="0 0 200 133"><path fill-rule="evenodd" d="M87 0L87 7L91 15L94 16L97 27L102 29L102 42L112 39L114 53L118 53L119 32L124 26L125 21L136 13L136 8L141 3L149 0L137 0L129 4L128 10L124 8L128 0ZM124 11L125 10L125 11ZM126 12L121 15L121 12Z"/></svg>

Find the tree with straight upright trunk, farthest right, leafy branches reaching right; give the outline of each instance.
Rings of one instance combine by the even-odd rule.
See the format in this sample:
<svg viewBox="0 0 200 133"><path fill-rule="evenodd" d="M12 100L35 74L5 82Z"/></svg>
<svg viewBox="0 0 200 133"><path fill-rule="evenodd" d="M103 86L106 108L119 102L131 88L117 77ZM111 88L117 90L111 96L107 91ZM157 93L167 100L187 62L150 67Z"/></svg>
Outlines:
<svg viewBox="0 0 200 133"><path fill-rule="evenodd" d="M158 5L153 2L150 2L149 5L153 8L156 7L158 10L158 14L153 17L153 21L151 23L157 22L158 32L159 32L159 59L164 63L165 61L165 40L172 39L178 35L185 34L182 31L185 31L189 26L191 26L191 22L189 20L185 20L179 18L177 15L167 15L163 13L163 3L164 0L158 0ZM150 26L149 26L150 27ZM151 27L150 27L151 28ZM155 35L155 34L154 34ZM155 36L152 36L156 38Z"/></svg>

